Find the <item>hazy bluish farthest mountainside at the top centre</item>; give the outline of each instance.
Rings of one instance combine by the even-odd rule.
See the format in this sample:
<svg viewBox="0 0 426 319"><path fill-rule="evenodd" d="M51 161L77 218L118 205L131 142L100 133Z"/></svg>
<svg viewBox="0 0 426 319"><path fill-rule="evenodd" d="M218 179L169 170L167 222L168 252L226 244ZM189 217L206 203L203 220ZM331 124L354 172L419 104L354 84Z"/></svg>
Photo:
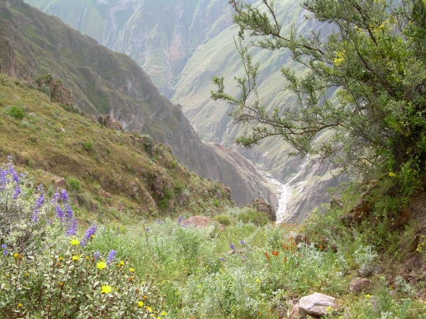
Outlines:
<svg viewBox="0 0 426 319"><path fill-rule="evenodd" d="M164 96L199 45L231 26L226 0L28 0L138 62Z"/></svg>

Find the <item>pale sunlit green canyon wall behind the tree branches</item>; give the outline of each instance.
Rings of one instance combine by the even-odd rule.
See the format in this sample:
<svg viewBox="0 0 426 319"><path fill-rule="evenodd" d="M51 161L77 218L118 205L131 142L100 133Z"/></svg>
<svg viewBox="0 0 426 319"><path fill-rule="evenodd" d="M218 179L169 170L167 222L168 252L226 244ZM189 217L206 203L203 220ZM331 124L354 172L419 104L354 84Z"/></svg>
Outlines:
<svg viewBox="0 0 426 319"><path fill-rule="evenodd" d="M287 17L288 30L290 23L295 22L300 33L310 30L322 30L328 34L329 29L320 23L308 22L297 0L277 1L279 17L282 21ZM322 166L311 166L306 159L288 157L290 146L277 138L262 140L251 150L243 150L234 145L234 139L243 133L246 128L234 125L226 115L229 111L226 103L212 101L210 91L216 89L212 84L212 77L219 76L226 79L227 92L234 96L239 94L234 77L244 77L244 68L239 61L239 53L234 45L235 28L226 28L217 37L199 47L192 58L187 62L180 74L179 82L175 86L172 101L182 105L185 116L190 120L197 133L206 141L219 142L240 152L251 159L258 167L271 172L273 177L287 184L290 191L290 202L287 206L285 220L300 221L307 213L329 200L327 188L337 186L337 179L329 172L333 170L329 163ZM246 44L249 44L248 42ZM275 50L266 52L251 47L254 62L260 62L258 72L259 92L268 110L292 106L293 97L286 91L285 79L280 73L280 66L293 67L302 74L304 69L291 61L290 52ZM332 92L331 92L332 93ZM318 137L327 138L327 133Z"/></svg>

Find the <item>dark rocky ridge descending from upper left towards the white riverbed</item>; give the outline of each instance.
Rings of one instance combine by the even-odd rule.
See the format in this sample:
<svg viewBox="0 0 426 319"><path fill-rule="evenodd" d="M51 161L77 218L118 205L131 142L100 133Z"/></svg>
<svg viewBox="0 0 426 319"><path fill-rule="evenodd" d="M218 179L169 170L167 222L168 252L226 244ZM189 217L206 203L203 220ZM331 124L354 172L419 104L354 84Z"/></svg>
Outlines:
<svg viewBox="0 0 426 319"><path fill-rule="evenodd" d="M28 80L52 73L70 89L77 108L109 114L124 128L171 145L189 169L205 178L222 177L224 184L238 190L236 194L242 197L233 198L236 202L245 204L261 197L275 203L268 181L253 174L254 167L234 167L204 145L180 106L160 96L148 75L129 57L109 51L20 0L1 1L0 17L0 72ZM236 172L234 178L224 174L227 170Z"/></svg>

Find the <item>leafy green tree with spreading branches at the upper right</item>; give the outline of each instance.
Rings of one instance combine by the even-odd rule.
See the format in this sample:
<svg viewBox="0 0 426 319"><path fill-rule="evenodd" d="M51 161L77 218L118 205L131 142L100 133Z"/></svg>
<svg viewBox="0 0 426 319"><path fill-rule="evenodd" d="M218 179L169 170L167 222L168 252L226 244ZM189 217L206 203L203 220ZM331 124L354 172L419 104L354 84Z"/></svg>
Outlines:
<svg viewBox="0 0 426 319"><path fill-rule="evenodd" d="M305 0L306 18L332 26L329 34L308 36L295 24L284 33L275 1L259 2L229 1L245 68L245 77L236 78L241 95L226 94L224 79L213 79L212 99L231 105L234 123L249 125L236 143L251 147L279 135L294 155L331 159L342 172L367 179L393 177L394 186L410 184L413 192L426 168L426 1ZM301 77L281 68L293 105L268 111L263 104L259 65L241 44L246 36L266 50L288 49L305 65ZM324 130L332 138L315 142Z"/></svg>

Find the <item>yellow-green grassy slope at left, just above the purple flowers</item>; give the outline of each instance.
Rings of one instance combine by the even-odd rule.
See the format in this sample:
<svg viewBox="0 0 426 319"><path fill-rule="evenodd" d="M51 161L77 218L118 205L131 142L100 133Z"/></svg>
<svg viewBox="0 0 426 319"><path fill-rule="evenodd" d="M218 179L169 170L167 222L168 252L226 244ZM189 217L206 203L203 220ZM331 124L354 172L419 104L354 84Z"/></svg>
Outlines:
<svg viewBox="0 0 426 319"><path fill-rule="evenodd" d="M84 194L91 203L80 207L83 221L95 218L133 223L135 219L178 214L183 208L187 216L222 211L213 201L223 186L187 171L177 163L170 147L155 144L151 156L138 142L138 135L117 134L94 123L93 118L65 111L50 103L45 94L16 83L0 75L0 162L11 155L21 172L29 172L35 185L43 182L46 189L54 177L80 180L80 191L72 191L73 197ZM9 115L13 106L25 110L22 120ZM130 196L135 187L138 195ZM167 203L163 208L158 206L164 197L155 188L175 193L174 210L164 207ZM102 190L112 197L102 195ZM204 208L192 205L195 201L202 202Z"/></svg>

